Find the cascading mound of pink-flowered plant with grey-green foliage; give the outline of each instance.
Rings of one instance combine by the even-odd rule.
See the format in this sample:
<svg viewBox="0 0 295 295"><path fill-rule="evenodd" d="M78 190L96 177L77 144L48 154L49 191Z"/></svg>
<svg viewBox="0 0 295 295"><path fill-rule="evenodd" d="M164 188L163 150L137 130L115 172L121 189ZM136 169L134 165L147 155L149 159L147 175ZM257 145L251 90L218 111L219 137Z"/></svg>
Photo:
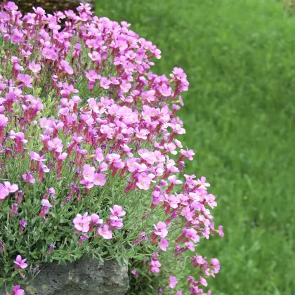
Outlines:
<svg viewBox="0 0 295 295"><path fill-rule="evenodd" d="M223 232L206 178L183 174L186 74L153 74L152 42L77 11L1 6L0 285L87 255L129 262L130 294L210 294L218 260L195 251Z"/></svg>

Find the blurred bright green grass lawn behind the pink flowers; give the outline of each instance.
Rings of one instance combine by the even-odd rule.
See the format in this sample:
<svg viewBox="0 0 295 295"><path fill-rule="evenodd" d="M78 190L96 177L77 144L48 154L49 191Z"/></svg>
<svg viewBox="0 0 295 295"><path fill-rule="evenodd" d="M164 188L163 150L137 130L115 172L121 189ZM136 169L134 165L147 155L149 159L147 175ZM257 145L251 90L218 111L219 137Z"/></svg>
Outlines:
<svg viewBox="0 0 295 295"><path fill-rule="evenodd" d="M131 22L190 89L180 113L187 173L207 176L225 237L213 294L295 294L295 21L278 0L97 0L96 13Z"/></svg>

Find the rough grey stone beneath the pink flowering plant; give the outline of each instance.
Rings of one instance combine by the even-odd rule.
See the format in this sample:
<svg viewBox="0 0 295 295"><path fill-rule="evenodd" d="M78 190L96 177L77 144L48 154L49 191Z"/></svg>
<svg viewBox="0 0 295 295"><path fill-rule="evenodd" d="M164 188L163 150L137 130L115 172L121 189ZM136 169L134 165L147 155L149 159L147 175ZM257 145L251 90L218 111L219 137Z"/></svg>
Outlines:
<svg viewBox="0 0 295 295"><path fill-rule="evenodd" d="M124 295L129 287L128 265L81 258L67 266L45 263L26 295ZM6 292L0 288L0 295Z"/></svg>

